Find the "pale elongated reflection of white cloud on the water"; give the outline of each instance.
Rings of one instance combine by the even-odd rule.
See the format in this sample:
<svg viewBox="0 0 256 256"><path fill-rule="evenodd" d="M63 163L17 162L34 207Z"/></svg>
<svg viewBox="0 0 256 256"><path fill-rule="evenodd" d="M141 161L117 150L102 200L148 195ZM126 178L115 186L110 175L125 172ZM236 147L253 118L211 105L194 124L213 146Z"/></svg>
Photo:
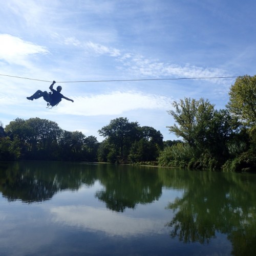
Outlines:
<svg viewBox="0 0 256 256"><path fill-rule="evenodd" d="M50 210L54 222L65 223L109 236L137 236L146 233L164 233L164 223L150 218L132 218L106 209L90 206L59 206Z"/></svg>

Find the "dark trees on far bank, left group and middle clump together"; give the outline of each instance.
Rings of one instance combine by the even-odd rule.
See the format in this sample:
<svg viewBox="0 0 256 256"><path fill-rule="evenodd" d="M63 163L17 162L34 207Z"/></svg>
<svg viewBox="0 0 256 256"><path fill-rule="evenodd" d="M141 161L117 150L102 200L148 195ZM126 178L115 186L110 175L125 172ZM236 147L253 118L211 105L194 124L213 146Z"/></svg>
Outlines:
<svg viewBox="0 0 256 256"><path fill-rule="evenodd" d="M163 136L153 127L140 127L127 118L116 118L99 130L101 143L94 136L60 129L47 120L16 118L0 126L0 160L103 161L110 163L156 164L163 149Z"/></svg>

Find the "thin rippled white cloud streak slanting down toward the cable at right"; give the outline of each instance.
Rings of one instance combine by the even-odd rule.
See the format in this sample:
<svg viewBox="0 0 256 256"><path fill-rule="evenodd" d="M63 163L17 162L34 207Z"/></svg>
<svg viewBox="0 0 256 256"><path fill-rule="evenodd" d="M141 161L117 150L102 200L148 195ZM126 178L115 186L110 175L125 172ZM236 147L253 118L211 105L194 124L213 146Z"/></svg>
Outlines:
<svg viewBox="0 0 256 256"><path fill-rule="evenodd" d="M195 78L195 77L219 77L228 76L227 71L219 68L199 67L186 63L177 65L165 63L156 59L146 58L143 55L125 52L124 50L111 48L92 41L81 42L76 38L66 38L66 44L81 47L86 51L94 52L97 55L108 55L114 57L119 63L118 70L133 74L135 77L169 77L169 78ZM121 64L121 65L120 65ZM222 83L221 80L210 80L214 83Z"/></svg>

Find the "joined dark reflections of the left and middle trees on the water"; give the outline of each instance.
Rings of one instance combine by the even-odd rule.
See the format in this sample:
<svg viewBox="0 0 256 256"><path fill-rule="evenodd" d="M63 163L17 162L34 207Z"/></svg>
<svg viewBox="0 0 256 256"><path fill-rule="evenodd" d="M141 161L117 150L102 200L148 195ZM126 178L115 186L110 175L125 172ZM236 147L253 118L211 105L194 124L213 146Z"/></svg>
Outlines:
<svg viewBox="0 0 256 256"><path fill-rule="evenodd" d="M114 211L152 203L162 193L155 170L111 164L89 165L61 162L16 162L1 166L0 191L9 201L26 203L49 200L60 190L78 190L96 180L104 189L96 197Z"/></svg>

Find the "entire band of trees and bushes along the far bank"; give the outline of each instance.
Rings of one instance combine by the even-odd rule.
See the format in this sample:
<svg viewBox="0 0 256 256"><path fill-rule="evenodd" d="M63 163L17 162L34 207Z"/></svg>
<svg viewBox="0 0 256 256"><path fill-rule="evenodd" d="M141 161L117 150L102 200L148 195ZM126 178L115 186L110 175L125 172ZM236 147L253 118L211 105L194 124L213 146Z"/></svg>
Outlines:
<svg viewBox="0 0 256 256"><path fill-rule="evenodd" d="M225 109L207 99L184 98L167 111L167 126L181 140L163 141L160 131L119 117L98 131L104 137L62 130L54 121L0 121L0 161L58 160L117 163L223 172L256 172L256 76L231 85Z"/></svg>

